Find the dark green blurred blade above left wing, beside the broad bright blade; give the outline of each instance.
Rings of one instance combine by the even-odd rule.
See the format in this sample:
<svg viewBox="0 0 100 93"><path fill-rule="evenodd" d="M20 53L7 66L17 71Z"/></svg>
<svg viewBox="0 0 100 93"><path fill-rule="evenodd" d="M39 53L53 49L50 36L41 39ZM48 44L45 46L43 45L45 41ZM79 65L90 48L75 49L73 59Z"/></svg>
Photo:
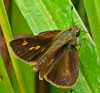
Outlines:
<svg viewBox="0 0 100 93"><path fill-rule="evenodd" d="M13 34L14 35L32 34L30 27L28 26L23 15L19 11L19 8L17 7L15 0L11 1L10 7L11 7L10 11L11 13L9 17Z"/></svg>

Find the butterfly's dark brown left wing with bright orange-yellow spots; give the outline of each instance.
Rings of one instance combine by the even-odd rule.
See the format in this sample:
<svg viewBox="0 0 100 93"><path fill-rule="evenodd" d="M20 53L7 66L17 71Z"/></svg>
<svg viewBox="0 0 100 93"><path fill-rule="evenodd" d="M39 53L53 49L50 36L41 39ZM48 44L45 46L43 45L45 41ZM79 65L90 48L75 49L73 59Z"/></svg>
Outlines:
<svg viewBox="0 0 100 93"><path fill-rule="evenodd" d="M37 36L15 39L10 42L10 47L18 58L35 64L35 60L49 48L52 39L59 31L60 30L47 31Z"/></svg>

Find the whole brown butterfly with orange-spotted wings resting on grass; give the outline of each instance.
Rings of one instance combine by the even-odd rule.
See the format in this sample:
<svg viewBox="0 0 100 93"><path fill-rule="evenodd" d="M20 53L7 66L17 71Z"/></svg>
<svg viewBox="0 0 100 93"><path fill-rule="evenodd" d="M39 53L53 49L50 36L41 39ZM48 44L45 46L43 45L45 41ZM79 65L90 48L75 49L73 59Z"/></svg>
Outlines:
<svg viewBox="0 0 100 93"><path fill-rule="evenodd" d="M18 58L35 65L39 79L45 78L56 87L70 88L79 76L78 52L75 48L81 30L42 32L36 36L15 39L10 46Z"/></svg>

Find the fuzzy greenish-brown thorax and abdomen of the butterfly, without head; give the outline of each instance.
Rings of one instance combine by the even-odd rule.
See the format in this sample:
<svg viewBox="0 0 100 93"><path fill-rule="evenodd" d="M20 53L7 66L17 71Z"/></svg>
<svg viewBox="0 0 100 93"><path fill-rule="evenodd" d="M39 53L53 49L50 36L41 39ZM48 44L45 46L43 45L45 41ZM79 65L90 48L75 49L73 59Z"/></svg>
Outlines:
<svg viewBox="0 0 100 93"><path fill-rule="evenodd" d="M53 58L56 52L65 44L68 44L73 40L73 35L70 31L62 31L53 39L53 42L49 49L37 60L38 64L34 67L34 70L40 70L40 79L43 79L47 67L53 62Z"/></svg>

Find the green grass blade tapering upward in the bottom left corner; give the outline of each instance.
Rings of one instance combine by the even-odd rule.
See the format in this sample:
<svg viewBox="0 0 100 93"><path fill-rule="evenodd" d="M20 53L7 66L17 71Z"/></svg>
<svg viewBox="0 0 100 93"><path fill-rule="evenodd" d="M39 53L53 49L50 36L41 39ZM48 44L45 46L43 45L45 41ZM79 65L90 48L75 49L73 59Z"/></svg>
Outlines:
<svg viewBox="0 0 100 93"><path fill-rule="evenodd" d="M8 91L13 93L13 88L0 53L0 93L7 93Z"/></svg>

